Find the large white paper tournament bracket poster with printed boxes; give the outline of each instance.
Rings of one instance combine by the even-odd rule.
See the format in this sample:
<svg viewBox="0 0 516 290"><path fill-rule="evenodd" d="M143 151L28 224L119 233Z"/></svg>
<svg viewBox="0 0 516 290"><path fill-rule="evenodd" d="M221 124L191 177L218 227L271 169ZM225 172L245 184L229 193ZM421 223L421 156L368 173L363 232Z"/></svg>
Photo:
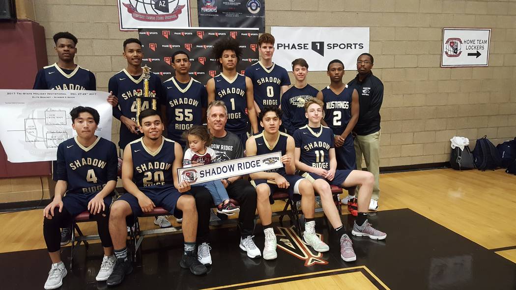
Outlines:
<svg viewBox="0 0 516 290"><path fill-rule="evenodd" d="M10 162L56 160L59 143L76 136L70 111L99 111L95 135L111 140L109 93L65 90L0 90L0 141Z"/></svg>

